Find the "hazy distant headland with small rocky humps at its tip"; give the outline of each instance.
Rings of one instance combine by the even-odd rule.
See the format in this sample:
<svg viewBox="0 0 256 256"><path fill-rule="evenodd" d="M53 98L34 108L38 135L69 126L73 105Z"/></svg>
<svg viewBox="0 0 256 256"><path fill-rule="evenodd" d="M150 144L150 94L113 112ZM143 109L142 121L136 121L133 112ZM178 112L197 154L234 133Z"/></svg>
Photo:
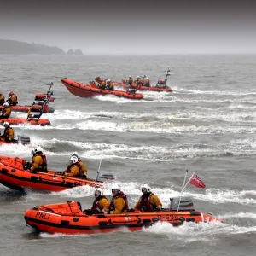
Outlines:
<svg viewBox="0 0 256 256"><path fill-rule="evenodd" d="M69 49L66 53L57 46L0 39L0 55L83 55L83 52L81 49Z"/></svg>

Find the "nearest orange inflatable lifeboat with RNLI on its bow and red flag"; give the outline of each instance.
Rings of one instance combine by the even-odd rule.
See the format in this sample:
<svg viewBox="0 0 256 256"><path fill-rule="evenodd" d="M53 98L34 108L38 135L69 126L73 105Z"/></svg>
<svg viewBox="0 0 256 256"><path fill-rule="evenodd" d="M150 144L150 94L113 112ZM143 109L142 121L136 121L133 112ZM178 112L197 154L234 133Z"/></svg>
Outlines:
<svg viewBox="0 0 256 256"><path fill-rule="evenodd" d="M179 226L185 222L209 222L219 220L212 214L196 211L189 198L182 198L179 211L179 198L171 199L171 207L160 212L127 212L125 214L91 214L82 210L79 201L67 201L52 205L33 207L25 212L26 224L38 232L67 235L107 233L121 230L124 227L131 231L142 230L155 223L167 222Z"/></svg>

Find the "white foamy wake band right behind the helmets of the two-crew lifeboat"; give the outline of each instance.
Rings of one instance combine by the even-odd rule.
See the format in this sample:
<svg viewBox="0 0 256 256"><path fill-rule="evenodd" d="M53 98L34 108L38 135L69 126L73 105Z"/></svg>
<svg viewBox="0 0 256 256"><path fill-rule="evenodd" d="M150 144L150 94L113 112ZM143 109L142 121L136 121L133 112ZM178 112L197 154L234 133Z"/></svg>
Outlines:
<svg viewBox="0 0 256 256"><path fill-rule="evenodd" d="M256 140L239 139L216 146L208 144L174 144L171 147L158 146L131 146L120 143L84 143L76 141L44 140L40 137L31 137L32 145L40 145L47 155L70 155L78 151L80 156L87 159L137 159L137 160L161 160L172 161L175 159L195 157L221 157L221 156L246 156L255 155ZM3 145L0 154L27 155L31 154L31 146Z"/></svg>

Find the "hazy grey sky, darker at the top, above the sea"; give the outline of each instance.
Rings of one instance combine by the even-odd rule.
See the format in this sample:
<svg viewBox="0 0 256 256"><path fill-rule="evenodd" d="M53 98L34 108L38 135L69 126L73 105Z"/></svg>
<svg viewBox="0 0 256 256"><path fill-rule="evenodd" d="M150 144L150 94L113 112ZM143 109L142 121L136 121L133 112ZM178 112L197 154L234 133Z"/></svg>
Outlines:
<svg viewBox="0 0 256 256"><path fill-rule="evenodd" d="M0 38L87 53L256 53L256 1L5 1Z"/></svg>

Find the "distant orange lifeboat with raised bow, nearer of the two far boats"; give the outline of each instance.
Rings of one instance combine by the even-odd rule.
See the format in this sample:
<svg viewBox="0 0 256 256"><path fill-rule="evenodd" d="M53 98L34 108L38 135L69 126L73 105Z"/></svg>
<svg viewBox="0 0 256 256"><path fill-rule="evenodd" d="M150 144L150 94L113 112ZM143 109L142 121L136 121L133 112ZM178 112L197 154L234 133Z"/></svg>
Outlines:
<svg viewBox="0 0 256 256"><path fill-rule="evenodd" d="M119 96L119 97L124 97L129 99L136 99L136 100L143 99L143 94L136 93L135 91L98 89L94 82L90 82L90 84L81 84L66 78L61 79L61 82L67 87L67 90L69 90L73 95L79 96L79 97L88 98L88 97L98 96L98 95L102 95L102 96L114 95L114 96Z"/></svg>

